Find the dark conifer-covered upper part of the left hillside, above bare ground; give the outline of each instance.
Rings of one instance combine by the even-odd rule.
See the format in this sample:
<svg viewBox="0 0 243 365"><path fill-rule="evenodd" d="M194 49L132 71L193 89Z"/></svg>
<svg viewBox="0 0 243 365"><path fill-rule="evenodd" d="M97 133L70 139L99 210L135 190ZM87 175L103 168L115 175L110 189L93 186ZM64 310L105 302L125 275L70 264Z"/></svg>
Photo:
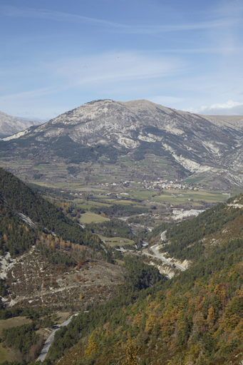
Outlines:
<svg viewBox="0 0 243 365"><path fill-rule="evenodd" d="M53 233L59 239L86 245L98 250L104 259L111 260L100 246L97 236L83 230L80 225L66 217L59 207L38 195L3 168L0 168L0 197L2 251L10 251L11 254L23 252L34 243L34 232L38 231ZM32 228L18 217L18 213L30 218L33 222ZM19 233L16 235L16 232Z"/></svg>

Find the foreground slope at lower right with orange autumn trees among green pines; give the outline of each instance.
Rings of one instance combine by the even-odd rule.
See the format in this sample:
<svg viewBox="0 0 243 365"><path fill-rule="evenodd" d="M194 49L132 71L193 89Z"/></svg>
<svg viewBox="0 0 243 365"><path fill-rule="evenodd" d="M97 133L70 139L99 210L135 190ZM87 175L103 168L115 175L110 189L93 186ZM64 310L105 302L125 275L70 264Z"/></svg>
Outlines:
<svg viewBox="0 0 243 365"><path fill-rule="evenodd" d="M52 361L76 344L73 357L69 352L58 364L125 364L130 347L139 350L134 364L140 365L239 364L242 255L243 240L233 240L172 280L89 308L57 332Z"/></svg>

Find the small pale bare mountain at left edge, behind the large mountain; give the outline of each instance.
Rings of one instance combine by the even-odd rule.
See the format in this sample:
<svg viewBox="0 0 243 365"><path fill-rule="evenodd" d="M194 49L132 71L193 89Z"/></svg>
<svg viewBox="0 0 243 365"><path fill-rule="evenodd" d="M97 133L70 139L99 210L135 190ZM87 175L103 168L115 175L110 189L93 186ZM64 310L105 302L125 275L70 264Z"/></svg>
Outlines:
<svg viewBox="0 0 243 365"><path fill-rule="evenodd" d="M39 124L36 120L23 120L0 111L0 138L21 132L21 130L25 130L31 125Z"/></svg>

